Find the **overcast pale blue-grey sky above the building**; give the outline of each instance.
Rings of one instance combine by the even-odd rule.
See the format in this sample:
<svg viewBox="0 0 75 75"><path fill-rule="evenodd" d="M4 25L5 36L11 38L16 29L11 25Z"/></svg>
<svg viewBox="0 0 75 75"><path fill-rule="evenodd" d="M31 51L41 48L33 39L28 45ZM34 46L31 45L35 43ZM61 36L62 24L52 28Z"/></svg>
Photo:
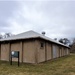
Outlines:
<svg viewBox="0 0 75 75"><path fill-rule="evenodd" d="M0 33L34 30L50 38L75 37L75 1L0 1Z"/></svg>

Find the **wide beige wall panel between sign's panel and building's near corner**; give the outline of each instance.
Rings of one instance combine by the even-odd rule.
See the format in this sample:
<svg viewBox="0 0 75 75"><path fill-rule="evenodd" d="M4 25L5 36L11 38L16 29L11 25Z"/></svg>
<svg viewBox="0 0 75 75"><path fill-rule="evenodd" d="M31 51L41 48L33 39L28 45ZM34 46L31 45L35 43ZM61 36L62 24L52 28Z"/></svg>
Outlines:
<svg viewBox="0 0 75 75"><path fill-rule="evenodd" d="M35 41L23 42L23 62L35 63Z"/></svg>

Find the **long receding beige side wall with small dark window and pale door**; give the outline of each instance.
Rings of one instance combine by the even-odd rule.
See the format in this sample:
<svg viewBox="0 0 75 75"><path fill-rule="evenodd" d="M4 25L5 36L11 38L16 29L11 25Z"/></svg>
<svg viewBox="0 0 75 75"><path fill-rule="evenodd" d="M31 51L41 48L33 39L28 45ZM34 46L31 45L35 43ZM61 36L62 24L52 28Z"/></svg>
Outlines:
<svg viewBox="0 0 75 75"><path fill-rule="evenodd" d="M56 56L54 58L62 57L62 56L65 56L66 54L69 54L69 51L66 50L65 47L59 46L59 45L56 45L56 44L53 44L53 46L55 47L55 50L56 50L55 51ZM45 48L40 48L40 41L39 41L39 43L37 43L37 47L38 47L37 48L37 51L38 51L38 62L46 61L45 60L45 57L47 58L47 60L52 59L52 56L51 55L53 55L52 54L53 53L53 50L51 50L52 48L51 48L51 44L50 43L47 43L46 42L47 54L45 53Z"/></svg>

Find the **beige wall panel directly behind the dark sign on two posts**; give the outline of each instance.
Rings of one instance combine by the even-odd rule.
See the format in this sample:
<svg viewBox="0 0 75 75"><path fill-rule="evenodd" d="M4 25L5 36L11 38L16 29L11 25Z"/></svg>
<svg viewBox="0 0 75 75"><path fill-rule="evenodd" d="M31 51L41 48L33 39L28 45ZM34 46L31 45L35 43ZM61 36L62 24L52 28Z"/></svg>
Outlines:
<svg viewBox="0 0 75 75"><path fill-rule="evenodd" d="M11 44L11 51L19 51L20 62L22 62L22 42L16 42ZM17 58L13 58L13 61L18 61Z"/></svg>

